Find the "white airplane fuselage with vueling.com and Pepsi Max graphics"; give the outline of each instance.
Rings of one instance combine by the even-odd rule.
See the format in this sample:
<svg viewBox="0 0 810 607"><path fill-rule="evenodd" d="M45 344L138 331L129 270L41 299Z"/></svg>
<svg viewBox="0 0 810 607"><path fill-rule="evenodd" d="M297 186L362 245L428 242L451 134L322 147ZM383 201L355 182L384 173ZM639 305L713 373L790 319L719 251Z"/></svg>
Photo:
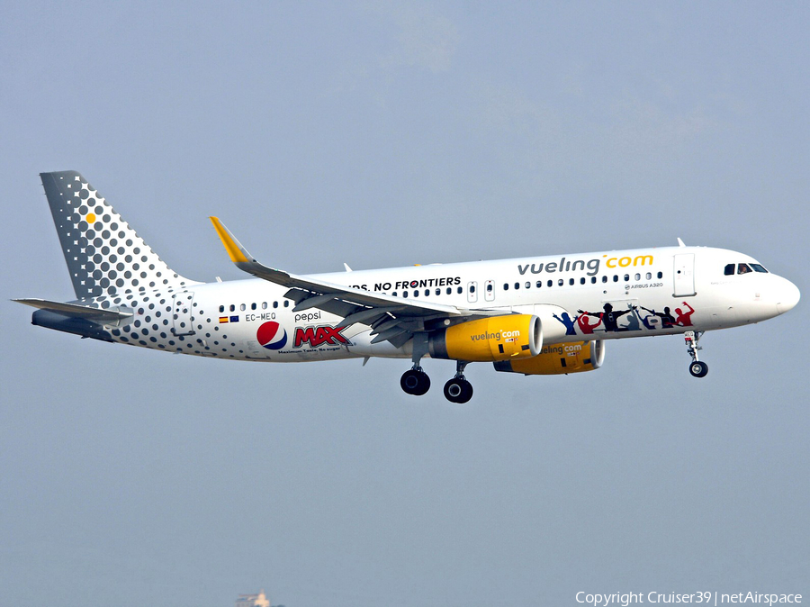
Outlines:
<svg viewBox="0 0 810 607"><path fill-rule="evenodd" d="M536 314L545 344L712 331L760 322L797 303L787 279L763 270L725 274L729 264L756 261L725 249L663 247L312 277L414 302ZM410 342L373 344L365 324L343 328L334 314L293 312L286 292L258 278L147 292L127 303L134 322L112 330L112 340L267 362L410 358ZM259 331L267 322L278 323L272 340Z"/></svg>

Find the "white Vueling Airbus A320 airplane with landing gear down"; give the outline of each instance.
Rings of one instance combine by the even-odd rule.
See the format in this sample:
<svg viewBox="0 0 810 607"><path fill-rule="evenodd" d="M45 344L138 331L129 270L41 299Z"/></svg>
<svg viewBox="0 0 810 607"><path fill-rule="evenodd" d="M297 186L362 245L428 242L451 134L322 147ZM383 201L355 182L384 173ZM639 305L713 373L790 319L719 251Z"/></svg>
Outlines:
<svg viewBox="0 0 810 607"><path fill-rule="evenodd" d="M524 376L592 371L608 340L680 334L692 376L706 331L791 310L799 290L756 259L678 246L298 276L259 263L216 217L230 260L252 275L203 283L169 268L76 171L41 173L76 299L16 299L31 323L82 338L194 356L304 362L407 358L407 394L428 392L423 358L456 362L444 386L466 403L472 362Z"/></svg>

